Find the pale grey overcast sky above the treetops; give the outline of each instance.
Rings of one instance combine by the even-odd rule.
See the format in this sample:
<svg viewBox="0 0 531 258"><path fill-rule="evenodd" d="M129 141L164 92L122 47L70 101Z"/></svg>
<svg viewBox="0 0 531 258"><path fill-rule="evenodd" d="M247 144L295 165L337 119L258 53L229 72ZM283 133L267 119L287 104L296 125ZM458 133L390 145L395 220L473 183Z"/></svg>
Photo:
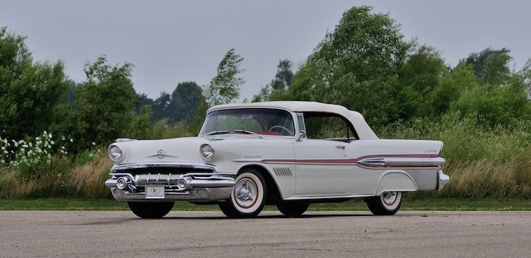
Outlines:
<svg viewBox="0 0 531 258"><path fill-rule="evenodd" d="M432 45L455 65L471 52L507 47L520 69L531 57L530 1L2 1L0 26L28 36L37 61L83 65L106 54L134 65L137 92L157 98L177 83L208 84L223 55L243 56L241 99L269 83L280 59L295 66L352 6L374 6L406 39Z"/></svg>

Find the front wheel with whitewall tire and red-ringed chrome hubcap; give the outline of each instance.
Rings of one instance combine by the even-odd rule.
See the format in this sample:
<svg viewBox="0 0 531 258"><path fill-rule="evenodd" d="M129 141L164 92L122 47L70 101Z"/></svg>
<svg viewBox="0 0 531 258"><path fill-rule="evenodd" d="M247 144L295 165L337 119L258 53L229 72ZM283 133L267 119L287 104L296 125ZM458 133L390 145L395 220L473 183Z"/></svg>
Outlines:
<svg viewBox="0 0 531 258"><path fill-rule="evenodd" d="M267 188L259 171L245 169L236 178L230 199L219 204L230 218L256 217L265 204Z"/></svg>

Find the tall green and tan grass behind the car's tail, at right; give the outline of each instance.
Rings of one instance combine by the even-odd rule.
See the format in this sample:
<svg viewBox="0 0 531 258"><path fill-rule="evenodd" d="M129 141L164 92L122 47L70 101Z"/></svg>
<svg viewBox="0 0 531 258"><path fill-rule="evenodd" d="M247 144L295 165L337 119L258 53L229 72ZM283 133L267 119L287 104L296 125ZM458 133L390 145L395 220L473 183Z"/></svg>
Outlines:
<svg viewBox="0 0 531 258"><path fill-rule="evenodd" d="M418 196L531 197L531 126L485 128L476 116L445 114L440 120L417 119L377 130L380 138L444 142L443 171L450 175L440 193Z"/></svg>

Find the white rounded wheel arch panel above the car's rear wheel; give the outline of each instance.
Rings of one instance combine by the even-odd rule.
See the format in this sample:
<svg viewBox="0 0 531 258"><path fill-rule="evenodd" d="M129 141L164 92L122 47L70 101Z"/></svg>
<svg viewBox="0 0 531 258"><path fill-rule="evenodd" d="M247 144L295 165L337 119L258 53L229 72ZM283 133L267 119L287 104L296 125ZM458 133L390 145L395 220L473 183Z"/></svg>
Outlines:
<svg viewBox="0 0 531 258"><path fill-rule="evenodd" d="M418 190L419 186L408 172L388 170L380 176L374 195L381 195L385 191L411 192Z"/></svg>

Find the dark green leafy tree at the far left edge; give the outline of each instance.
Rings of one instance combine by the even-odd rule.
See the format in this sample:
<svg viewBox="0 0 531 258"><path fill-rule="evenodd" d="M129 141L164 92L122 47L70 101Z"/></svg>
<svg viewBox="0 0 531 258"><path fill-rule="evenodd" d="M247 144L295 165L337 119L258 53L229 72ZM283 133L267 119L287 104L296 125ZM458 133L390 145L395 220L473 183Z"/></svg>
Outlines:
<svg viewBox="0 0 531 258"><path fill-rule="evenodd" d="M25 41L0 28L0 130L15 140L48 129L69 84L61 61L34 62Z"/></svg>

